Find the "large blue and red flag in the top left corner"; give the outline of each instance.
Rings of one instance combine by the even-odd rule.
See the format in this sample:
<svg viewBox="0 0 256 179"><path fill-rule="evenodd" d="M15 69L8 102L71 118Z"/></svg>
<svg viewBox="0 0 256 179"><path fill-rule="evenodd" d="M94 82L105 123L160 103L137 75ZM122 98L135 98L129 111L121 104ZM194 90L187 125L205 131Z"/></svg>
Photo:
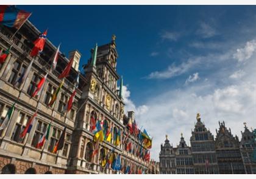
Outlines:
<svg viewBox="0 0 256 179"><path fill-rule="evenodd" d="M19 29L31 13L15 7L15 5L0 5L0 23L7 27Z"/></svg>

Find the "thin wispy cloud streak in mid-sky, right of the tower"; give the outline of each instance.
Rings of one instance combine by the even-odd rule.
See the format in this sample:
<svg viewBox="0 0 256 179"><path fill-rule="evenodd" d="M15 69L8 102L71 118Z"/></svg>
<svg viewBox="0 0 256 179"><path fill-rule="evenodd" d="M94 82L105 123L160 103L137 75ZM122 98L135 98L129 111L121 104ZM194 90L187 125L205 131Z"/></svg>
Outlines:
<svg viewBox="0 0 256 179"><path fill-rule="evenodd" d="M193 58L188 59L187 62L182 62L179 66L172 64L168 67L168 69L163 70L161 72L152 72L146 78L148 79L167 79L172 78L173 76L181 75L182 73L187 72L192 67L194 67L197 63L199 63L201 58Z"/></svg>

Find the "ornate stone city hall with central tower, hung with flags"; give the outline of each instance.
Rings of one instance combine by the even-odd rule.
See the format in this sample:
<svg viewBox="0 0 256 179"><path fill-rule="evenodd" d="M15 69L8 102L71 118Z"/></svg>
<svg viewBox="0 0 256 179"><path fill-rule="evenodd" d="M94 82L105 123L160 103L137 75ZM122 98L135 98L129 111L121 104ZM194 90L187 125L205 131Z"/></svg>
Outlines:
<svg viewBox="0 0 256 179"><path fill-rule="evenodd" d="M57 67L51 72L52 56L56 47L46 39L43 53L37 55L32 68L23 85L14 85L29 66L32 58L30 50L40 31L30 22L26 23L10 40L16 29L0 26L0 54L9 49L10 53L4 63L0 64L0 125L4 121L10 107L15 103L8 126L0 130L0 173L1 174L124 174L130 166L130 174L139 171L144 174L157 174L158 163L146 161L138 155L136 149L141 146L138 137L130 134L127 123L135 120L135 114L124 113L124 101L121 96L122 84L118 90L119 74L116 72L118 53L115 36L112 41L91 49L91 58L79 72L82 54L77 50L69 52L68 58L73 58L69 76L65 78L62 89L52 106L48 106L52 94L58 88L60 73L68 64L68 58L59 53ZM51 33L51 30L49 30ZM95 53L96 55L93 55ZM48 73L40 95L32 97L38 81ZM76 88L76 78L79 75L79 85L74 96L71 110L63 115L69 97ZM32 128L24 138L20 138L29 119L37 110ZM91 120L99 119L104 127L113 127L112 136L121 131L118 146L112 141L99 143L99 151L92 155L96 144L91 132ZM49 138L42 147L37 143L50 126ZM65 143L56 154L52 153L55 144L66 127ZM127 136L128 135L128 136ZM124 138L127 142L123 143ZM133 144L127 151L128 141ZM115 149L115 150L113 150ZM120 171L112 167L102 167L102 160L110 151L114 151L113 159L121 156ZM142 146L144 154L146 148Z"/></svg>

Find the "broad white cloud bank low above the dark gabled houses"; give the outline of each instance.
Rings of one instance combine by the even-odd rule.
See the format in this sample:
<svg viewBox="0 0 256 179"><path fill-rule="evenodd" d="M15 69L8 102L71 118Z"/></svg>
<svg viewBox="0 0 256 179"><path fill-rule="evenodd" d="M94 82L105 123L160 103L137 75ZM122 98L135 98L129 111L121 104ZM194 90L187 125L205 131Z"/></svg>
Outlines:
<svg viewBox="0 0 256 179"><path fill-rule="evenodd" d="M211 69L205 76L205 80L198 81L196 84L191 83L186 88L166 88L165 92L154 91L154 95L149 95L144 103L148 111L143 115L135 115L137 121L154 137L152 158L158 160L160 144L165 141L166 134L174 147L179 143L181 132L187 144L190 144L191 129L194 129L198 112L201 113L202 121L207 129L209 128L215 136L218 121L222 120L226 122L227 127L232 129L232 134L240 138L244 122L249 127L256 127L256 61L250 60L244 64L239 61L234 62L230 55L231 52L233 49L200 59L204 63L201 63L203 64L201 69L197 68L198 73L202 69L207 72ZM252 55L247 59L249 58L252 58ZM197 61L196 64L199 62ZM195 64L187 61L180 66L172 65L163 72L151 73L149 77L170 78L187 72L194 66ZM233 73L235 75L230 75L230 72L235 72ZM196 75L191 75L190 79L193 79L193 76ZM230 78L236 80L230 81Z"/></svg>

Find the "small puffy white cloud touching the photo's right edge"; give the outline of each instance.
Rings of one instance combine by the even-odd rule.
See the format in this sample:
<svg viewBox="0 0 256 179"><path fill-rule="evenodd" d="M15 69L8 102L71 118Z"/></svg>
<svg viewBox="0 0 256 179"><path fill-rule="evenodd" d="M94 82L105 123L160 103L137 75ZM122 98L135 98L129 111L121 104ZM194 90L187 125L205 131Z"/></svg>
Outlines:
<svg viewBox="0 0 256 179"><path fill-rule="evenodd" d="M238 59L238 61L245 61L246 59L251 58L256 50L256 41L246 42L246 46L243 49L236 49L236 53L233 55L233 58Z"/></svg>

